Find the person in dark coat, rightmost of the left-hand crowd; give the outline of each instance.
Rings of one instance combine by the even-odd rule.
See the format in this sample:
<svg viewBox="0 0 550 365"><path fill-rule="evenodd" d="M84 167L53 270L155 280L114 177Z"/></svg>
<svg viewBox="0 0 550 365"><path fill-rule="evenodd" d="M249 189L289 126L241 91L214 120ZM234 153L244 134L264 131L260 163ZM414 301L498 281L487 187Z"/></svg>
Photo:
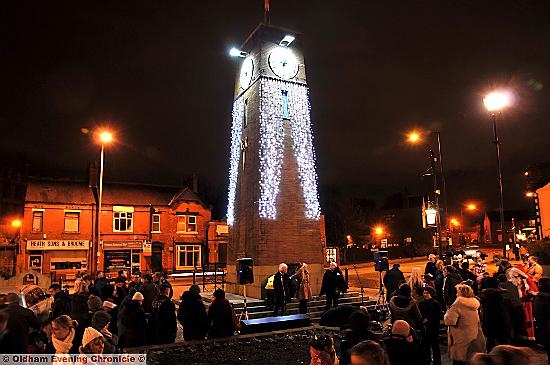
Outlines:
<svg viewBox="0 0 550 365"><path fill-rule="evenodd" d="M208 307L208 321L209 339L233 336L237 330L237 315L229 300L225 298L223 289L214 291L214 300Z"/></svg>

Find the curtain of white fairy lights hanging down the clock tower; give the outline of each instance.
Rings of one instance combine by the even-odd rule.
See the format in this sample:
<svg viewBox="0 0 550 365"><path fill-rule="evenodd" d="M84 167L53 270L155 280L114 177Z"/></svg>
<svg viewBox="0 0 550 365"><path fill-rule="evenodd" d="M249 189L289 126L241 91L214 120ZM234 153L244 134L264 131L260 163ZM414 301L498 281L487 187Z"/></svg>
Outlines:
<svg viewBox="0 0 550 365"><path fill-rule="evenodd" d="M315 151L309 92L306 85L262 77L259 85L259 160L260 198L258 201L261 218L277 218L277 196L281 184L281 171L284 153L283 110L288 107L290 114L290 136L292 150L298 166L298 176L304 193L306 218L319 219L321 208L317 192L315 171ZM286 96L283 100L283 91ZM288 100L288 101L287 101ZM288 105L283 106L284 103ZM244 97L239 96L233 104L233 125L231 127L231 156L229 170L229 203L227 223L234 224L235 199L241 154L241 139L244 119Z"/></svg>

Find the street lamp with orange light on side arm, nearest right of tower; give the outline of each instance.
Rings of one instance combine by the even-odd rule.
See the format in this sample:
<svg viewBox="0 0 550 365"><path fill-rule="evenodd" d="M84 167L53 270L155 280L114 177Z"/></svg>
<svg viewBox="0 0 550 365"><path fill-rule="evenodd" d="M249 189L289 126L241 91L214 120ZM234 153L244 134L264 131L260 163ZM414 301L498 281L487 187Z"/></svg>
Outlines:
<svg viewBox="0 0 550 365"><path fill-rule="evenodd" d="M437 170L435 166L436 159L439 159L439 174L441 176L441 185L443 190L443 207L445 214L443 217L444 228L447 228L446 219L447 219L447 189L445 187L445 174L443 173L443 154L441 152L441 133L439 131L428 131L427 133L435 134L437 137L437 158L434 155L432 149L430 149L430 164L433 174L433 184L434 184L434 198L435 198L435 209L437 210L436 216L436 239L437 245L439 246L439 257L443 258L443 247L441 246L441 213L439 205L439 195L441 191L437 186ZM412 144L420 143L422 141L422 132L412 131L407 135L407 141Z"/></svg>

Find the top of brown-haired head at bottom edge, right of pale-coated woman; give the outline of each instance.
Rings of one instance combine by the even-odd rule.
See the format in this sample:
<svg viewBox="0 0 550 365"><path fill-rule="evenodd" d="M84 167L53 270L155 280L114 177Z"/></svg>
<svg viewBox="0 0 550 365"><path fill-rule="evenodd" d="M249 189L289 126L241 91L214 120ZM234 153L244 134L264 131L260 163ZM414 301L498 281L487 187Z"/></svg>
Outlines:
<svg viewBox="0 0 550 365"><path fill-rule="evenodd" d="M478 353L470 365L530 365L535 363L535 353L527 347L495 346L488 354Z"/></svg>

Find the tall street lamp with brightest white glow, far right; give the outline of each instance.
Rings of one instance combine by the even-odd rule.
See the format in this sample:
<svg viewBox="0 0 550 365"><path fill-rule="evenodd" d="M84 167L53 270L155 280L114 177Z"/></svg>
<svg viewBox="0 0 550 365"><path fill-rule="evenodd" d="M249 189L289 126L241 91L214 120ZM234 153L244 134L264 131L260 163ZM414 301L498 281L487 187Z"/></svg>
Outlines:
<svg viewBox="0 0 550 365"><path fill-rule="evenodd" d="M512 105L512 97L507 91L494 91L488 94L483 103L485 108L493 118L493 133L495 136L496 156L497 156L497 177L498 177L498 196L499 196L499 211L500 211L500 234L502 239L502 257L506 257L506 240L504 239L504 198L502 195L502 170L500 168L500 141L497 132L497 112ZM498 235L497 235L498 239Z"/></svg>

